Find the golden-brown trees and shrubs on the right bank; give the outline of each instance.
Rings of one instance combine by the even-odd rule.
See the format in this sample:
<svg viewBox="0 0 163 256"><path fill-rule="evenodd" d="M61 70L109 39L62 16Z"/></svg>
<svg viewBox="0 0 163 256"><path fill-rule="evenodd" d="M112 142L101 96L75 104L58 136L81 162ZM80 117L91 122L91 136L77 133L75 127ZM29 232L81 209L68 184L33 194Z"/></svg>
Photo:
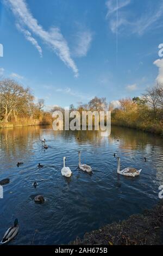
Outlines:
<svg viewBox="0 0 163 256"><path fill-rule="evenodd" d="M112 106L110 106L112 108ZM163 135L163 87L156 84L141 97L121 99L120 107L112 109L112 124Z"/></svg>

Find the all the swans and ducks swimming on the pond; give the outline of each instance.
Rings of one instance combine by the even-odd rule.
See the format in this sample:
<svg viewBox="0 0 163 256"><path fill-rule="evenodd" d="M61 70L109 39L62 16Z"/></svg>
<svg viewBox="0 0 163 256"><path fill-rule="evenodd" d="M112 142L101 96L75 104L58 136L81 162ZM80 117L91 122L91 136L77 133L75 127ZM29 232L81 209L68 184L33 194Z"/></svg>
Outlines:
<svg viewBox="0 0 163 256"><path fill-rule="evenodd" d="M117 142L118 141L119 140L117 139ZM41 139L41 142L43 142L43 148L47 149L48 145L45 144L46 139ZM81 163L81 153L80 153L80 151L78 152L78 156L79 156L79 169L81 169L81 170L83 170L84 172L87 172L87 173L92 173L91 166ZM127 167L127 168L124 168L123 170L121 170L120 169L120 167L121 167L120 166L120 157L118 157L116 153L114 153L113 156L117 157L117 161L118 161L117 173L118 174L121 174L121 175L124 175L124 176L129 176L129 177L135 177L135 176L140 175L142 169L137 170L133 167ZM65 166L65 160L66 160L65 156L64 156L63 160L64 160L64 167L61 169L61 174L62 174L62 176L70 178L70 176L72 175L72 171L69 167ZM146 157L144 157L143 160L146 162L147 161ZM18 162L17 167L21 166L22 164L23 164L23 162ZM42 168L43 165L39 163L37 165L37 167ZM3 180L0 181L0 185L5 185L5 184L8 184L9 182L10 182L10 179L3 179ZM37 182L36 181L33 182L33 186L34 186L34 188L37 187ZM43 203L45 201L45 199L40 194L40 195L38 195L34 198L34 201L35 201L35 203ZM9 242L11 239L13 239L16 236L17 233L18 233L18 220L16 218L15 221L14 221L14 225L12 227L10 227L5 232L5 234L3 236L3 239L1 241L1 244Z"/></svg>

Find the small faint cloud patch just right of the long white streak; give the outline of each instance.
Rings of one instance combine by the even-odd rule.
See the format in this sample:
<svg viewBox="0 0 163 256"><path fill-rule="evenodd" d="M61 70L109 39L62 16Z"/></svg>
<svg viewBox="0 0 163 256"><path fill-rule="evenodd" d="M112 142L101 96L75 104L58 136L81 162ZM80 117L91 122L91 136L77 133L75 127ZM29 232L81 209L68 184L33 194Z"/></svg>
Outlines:
<svg viewBox="0 0 163 256"><path fill-rule="evenodd" d="M74 56L84 57L90 49L92 33L90 31L78 32L76 35L76 46L74 47Z"/></svg>

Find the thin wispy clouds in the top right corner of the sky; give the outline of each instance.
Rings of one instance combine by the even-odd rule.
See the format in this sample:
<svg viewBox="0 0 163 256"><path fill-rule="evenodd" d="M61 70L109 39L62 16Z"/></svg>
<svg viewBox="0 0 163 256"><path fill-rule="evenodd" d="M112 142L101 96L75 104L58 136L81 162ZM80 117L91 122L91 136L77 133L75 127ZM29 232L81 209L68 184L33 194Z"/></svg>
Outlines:
<svg viewBox="0 0 163 256"><path fill-rule="evenodd" d="M117 5L118 3L118 5ZM143 14L136 18L134 21L130 21L127 19L127 14L124 13L125 7L127 7L131 1L130 0L118 0L116 3L115 0L108 0L106 2L106 7L108 9L106 14L106 19L109 20L109 26L112 33L116 33L117 27L120 29L128 29L130 33L142 35L149 29L153 29L155 27L160 27L159 19L163 14L163 3L155 4L153 8L146 9L143 11ZM115 15L115 11L118 10L118 20Z"/></svg>

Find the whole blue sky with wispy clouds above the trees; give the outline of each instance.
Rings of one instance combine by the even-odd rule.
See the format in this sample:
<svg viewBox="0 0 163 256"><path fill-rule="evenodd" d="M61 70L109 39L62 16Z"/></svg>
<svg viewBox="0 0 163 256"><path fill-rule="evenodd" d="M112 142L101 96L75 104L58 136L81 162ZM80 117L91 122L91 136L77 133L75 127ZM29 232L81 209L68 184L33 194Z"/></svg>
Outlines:
<svg viewBox="0 0 163 256"><path fill-rule="evenodd" d="M1 0L1 77L47 106L140 96L163 63L162 0Z"/></svg>

